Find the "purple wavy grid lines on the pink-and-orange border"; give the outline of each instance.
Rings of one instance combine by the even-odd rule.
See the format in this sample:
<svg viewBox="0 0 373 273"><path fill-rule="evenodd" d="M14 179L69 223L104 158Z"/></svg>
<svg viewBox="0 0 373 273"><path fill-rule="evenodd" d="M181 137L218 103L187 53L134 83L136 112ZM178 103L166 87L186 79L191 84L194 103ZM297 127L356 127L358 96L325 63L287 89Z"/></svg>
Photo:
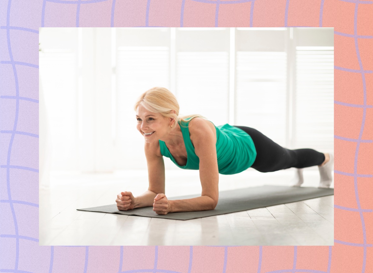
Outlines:
<svg viewBox="0 0 373 273"><path fill-rule="evenodd" d="M79 26L79 12L80 12L80 6L81 4L90 4L90 3L98 3L102 1L109 1L109 0L77 0L77 1L65 1L65 0L43 0L42 4L42 11L41 11L41 27L44 27L44 15L45 15L45 6L46 2L54 2L54 3L64 3L64 4L75 4L76 5L76 26ZM210 4L216 4L216 14L215 14L215 26L218 25L218 12L219 12L219 5L220 4L235 4L235 3L247 3L251 2L251 11L250 11L250 26L253 24L253 12L254 12L254 4L255 0L233 0L233 1L222 1L222 0L192 0L200 3L210 3ZM319 27L322 27L322 16L323 16L323 5L324 1L321 1L320 4L320 16L319 16ZM355 42L355 53L357 54L358 58L358 63L359 63L359 70L356 69L348 69L348 68L341 68L335 66L335 69L338 70L343 70L351 73L360 73L363 81L363 97L364 97L364 104L363 105L356 105L356 104L350 104L350 103L345 103L341 101L335 101L335 104L343 105L346 107L358 107L358 108L363 108L363 119L361 122L360 126L360 133L358 139L350 139L350 138L344 138L344 137L339 137L335 136L337 139L342 139L344 141L352 141L356 142L356 150L355 150L355 159L354 159L354 173L346 173L342 172L339 170L335 170L335 173L341 174L341 175L347 175L347 176L353 176L354 177L354 190L355 190L355 199L357 202L358 208L348 208L348 207L342 207L339 205L335 205L336 209L341 209L341 210L348 210L348 211L355 211L358 212L360 215L360 220L361 220L361 225L363 228L363 244L355 244L352 242L344 242L340 240L335 240L335 243L337 244L344 244L344 245L349 245L349 246L354 246L354 247L363 247L363 267L361 272L365 272L365 267L366 267L366 253L367 253L367 247L372 247L372 244L367 244L367 239L366 239L366 226L364 223L364 216L363 212L365 213L372 213L372 209L362 209L360 205L360 200L359 200L359 195L358 195L358 188L357 188L357 178L358 177L369 177L372 178L372 174L358 174L357 173L357 158L358 158L358 153L360 150L360 143L372 143L372 139L361 139L365 122L366 122L366 109L367 108L372 108L372 105L367 105L366 103L366 97L367 97L367 90L366 90L366 78L365 74L366 73L372 73L372 70L364 70L363 69L363 63L361 61L360 57L360 52L359 52L359 47L358 47L358 38L364 38L364 39L372 39L373 37L371 35L357 35L357 17L358 17L358 5L359 4L372 4L372 1L361 1L361 0L340 0L344 2L349 2L349 3L354 3L355 4L355 12L354 12L354 34L346 34L342 32L337 32L335 31L335 35L341 35L345 37L351 37L354 38ZM7 158L7 164L6 165L1 165L1 168L6 169L6 186L7 186L7 195L8 199L7 200L1 200L1 203L9 203L10 210L12 212L12 217L13 217L13 223L15 226L15 234L1 234L1 238L15 238L15 243L16 243L16 253L15 253L15 266L14 269L4 269L1 268L0 272L26 272L26 271L20 271L18 270L18 263L19 263L19 239L23 240L29 240L33 242L38 242L37 238L32 238L28 236L20 236L18 232L18 223L15 215L15 209L13 204L23 204L26 206L33 206L33 207L38 207L38 204L35 203L30 203L22 200L13 200L10 194L10 169L23 169L23 170L28 170L31 172L38 172L37 169L33 169L30 167L26 166L14 166L10 165L10 156L11 156L11 151L13 147L13 140L16 134L21 134L21 135L26 135L28 137L34 137L38 138L38 135L36 134L31 134L29 132L21 132L17 131L17 123L18 123L18 114L19 114L19 100L24 100L28 101L29 103L39 103L38 100L33 99L33 98L28 98L28 97L21 97L19 96L19 82L18 82L18 74L17 74L17 68L16 65L21 65L21 66L28 66L31 68L38 69L38 65L32 64L32 63L27 63L27 62L19 62L15 61L13 59L13 54L12 54L12 47L10 43L10 31L11 30L18 30L18 31L25 31L25 32L31 32L38 34L38 30L27 28L27 27L18 27L18 26L10 26L10 7L11 7L12 0L8 0L7 4L7 12L6 12L6 26L1 26L1 29L6 29L6 37L7 37L7 49L8 49L8 54L9 54L9 60L1 60L0 64L1 65L12 65L12 70L13 70L13 76L14 76L14 81L15 81L15 95L10 96L10 95L2 95L0 96L0 99L2 100L9 100L9 99L14 99L16 100L15 104L15 120L13 123L13 130L1 130L1 134L11 134L10 141L9 141L9 146L8 146L8 152L6 155ZM115 4L116 0L112 0L112 12L111 12L111 26L114 26L114 10L115 10ZM182 5L181 5L181 21L180 21L180 26L183 26L183 17L184 17L184 6L185 6L185 0L182 0ZM289 7L289 0L286 1L286 9L285 9L285 22L284 26L285 27L292 27L289 26L287 21L288 21L288 7ZM146 9L146 17L145 17L145 26L146 27L154 27L154 26L149 26L148 25L148 19L149 19L149 8L150 8L150 0L147 1L147 9ZM144 27L144 26L139 26L139 27ZM295 27L295 26L293 26ZM300 27L300 26L297 26ZM36 52L29 52L31 54L37 54ZM3 102L1 102L3 104ZM222 269L222 272L225 272L226 270L226 265L227 265L227 257L228 257L228 247L229 246L220 246L224 248L225 255L224 255L224 266ZM54 259L54 248L53 246L50 247L50 266L49 266L49 272L52 272L53 270L53 259ZM88 258L89 258L89 247L85 246L85 265L84 265L84 272L87 272L87 267L88 267ZM191 272L192 268L192 261L193 261L193 247L190 246L190 252L189 252L189 266L188 266L188 273ZM332 257L332 247L329 247L329 258L328 258L328 265L327 265L327 271L325 273L330 272L330 265L331 265L331 257ZM281 272L312 272L312 273L324 273L324 271L318 271L318 270L307 270L307 269L295 269L296 261L297 261L297 246L294 247L294 263L293 263L293 268L292 269L286 269L286 270L275 270L271 271L271 273L281 273ZM123 266L123 247L120 247L120 263L119 263L119 269L118 272L166 272L166 273L171 273L174 271L170 270L165 270L165 269L157 269L157 262L158 262L158 247L155 247L155 260L154 260L154 268L153 269L142 269L142 270L128 270L128 271L122 271L122 266ZM257 272L261 272L261 262L262 262L262 247L259 247L259 260L258 260L258 270ZM267 272L269 273L269 272Z"/></svg>

